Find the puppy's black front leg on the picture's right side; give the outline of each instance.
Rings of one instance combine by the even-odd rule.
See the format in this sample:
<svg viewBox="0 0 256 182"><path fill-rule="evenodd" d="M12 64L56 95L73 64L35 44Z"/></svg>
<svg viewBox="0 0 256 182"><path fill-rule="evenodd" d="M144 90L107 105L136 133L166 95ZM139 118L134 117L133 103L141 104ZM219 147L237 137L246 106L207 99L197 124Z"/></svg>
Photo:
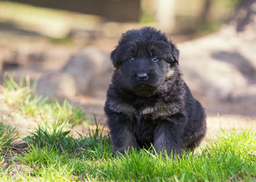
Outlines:
<svg viewBox="0 0 256 182"><path fill-rule="evenodd" d="M184 125L187 117L174 117L172 121L161 121L154 133L154 148L156 152L165 151L167 155L179 154L183 146Z"/></svg>

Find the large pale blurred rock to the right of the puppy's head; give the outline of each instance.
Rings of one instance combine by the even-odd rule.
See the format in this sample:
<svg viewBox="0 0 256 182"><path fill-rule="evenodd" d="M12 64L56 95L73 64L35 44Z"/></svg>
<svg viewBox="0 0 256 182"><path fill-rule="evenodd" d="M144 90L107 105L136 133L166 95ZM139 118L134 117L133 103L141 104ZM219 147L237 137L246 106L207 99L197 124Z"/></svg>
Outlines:
<svg viewBox="0 0 256 182"><path fill-rule="evenodd" d="M255 87L256 60L243 49L248 42L231 30L228 32L220 31L178 45L184 80L192 91L216 99L230 99L241 97L245 90ZM254 52L253 46L247 49Z"/></svg>

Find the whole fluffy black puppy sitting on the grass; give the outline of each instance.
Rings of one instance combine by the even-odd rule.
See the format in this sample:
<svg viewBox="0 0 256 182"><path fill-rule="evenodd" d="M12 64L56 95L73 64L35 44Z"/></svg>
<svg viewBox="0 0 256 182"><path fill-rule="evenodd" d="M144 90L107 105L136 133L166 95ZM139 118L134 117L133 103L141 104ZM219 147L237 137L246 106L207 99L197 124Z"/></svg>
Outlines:
<svg viewBox="0 0 256 182"><path fill-rule="evenodd" d="M194 149L206 134L206 115L181 77L179 51L152 27L123 33L104 111L116 152L142 147L168 155Z"/></svg>

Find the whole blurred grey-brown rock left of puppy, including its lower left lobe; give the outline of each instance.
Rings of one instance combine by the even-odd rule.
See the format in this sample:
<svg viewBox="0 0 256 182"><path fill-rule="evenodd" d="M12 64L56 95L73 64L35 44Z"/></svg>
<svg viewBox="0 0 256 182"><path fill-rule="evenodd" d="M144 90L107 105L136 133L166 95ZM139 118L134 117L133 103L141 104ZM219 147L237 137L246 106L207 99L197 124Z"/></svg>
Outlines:
<svg viewBox="0 0 256 182"><path fill-rule="evenodd" d="M43 75L37 93L50 97L82 94L104 98L112 71L109 55L93 46L86 47L72 55L61 71Z"/></svg>

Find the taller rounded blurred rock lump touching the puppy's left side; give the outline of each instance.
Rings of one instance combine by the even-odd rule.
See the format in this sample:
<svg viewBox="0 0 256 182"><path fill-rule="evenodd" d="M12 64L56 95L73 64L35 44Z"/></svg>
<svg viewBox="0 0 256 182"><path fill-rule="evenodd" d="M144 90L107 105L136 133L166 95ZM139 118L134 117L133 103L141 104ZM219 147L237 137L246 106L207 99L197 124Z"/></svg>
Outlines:
<svg viewBox="0 0 256 182"><path fill-rule="evenodd" d="M86 47L71 56L62 73L75 80L78 93L104 97L113 71L109 57L93 46Z"/></svg>

